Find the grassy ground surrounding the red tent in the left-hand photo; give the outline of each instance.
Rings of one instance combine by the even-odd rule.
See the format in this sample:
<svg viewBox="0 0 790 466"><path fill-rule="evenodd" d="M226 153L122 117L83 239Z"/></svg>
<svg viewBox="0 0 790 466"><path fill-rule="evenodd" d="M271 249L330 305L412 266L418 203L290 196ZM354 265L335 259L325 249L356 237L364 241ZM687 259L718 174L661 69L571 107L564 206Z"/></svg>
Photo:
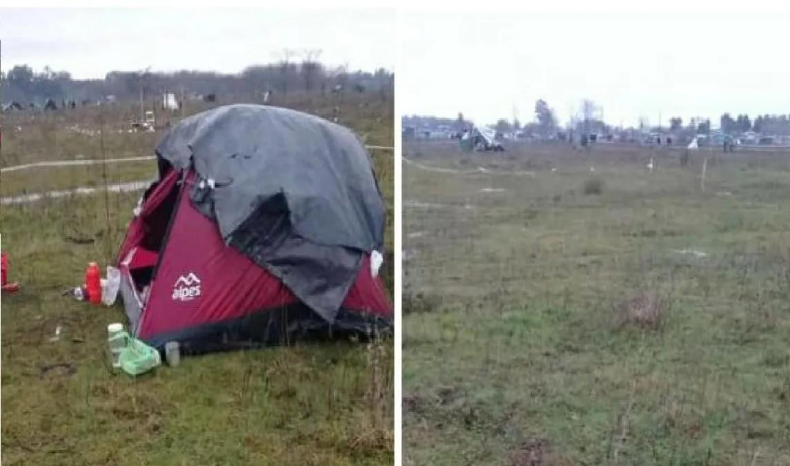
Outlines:
<svg viewBox="0 0 790 466"><path fill-rule="evenodd" d="M367 143L392 145L391 98L295 96L275 104L323 116L337 105L340 122ZM134 108L104 111L4 115L0 166L152 153L161 131L119 132ZM108 130L100 137L73 126ZM393 156L372 154L388 204L391 251ZM155 175L153 161L106 170L38 168L2 174L0 193ZM390 341L205 355L136 380L111 374L106 326L125 321L121 306L96 308L62 292L81 282L88 261L111 261L139 195L102 192L0 207L10 278L22 285L17 295L2 296L3 464L392 464ZM388 258L382 273L391 290ZM51 340L58 326L60 337Z"/></svg>

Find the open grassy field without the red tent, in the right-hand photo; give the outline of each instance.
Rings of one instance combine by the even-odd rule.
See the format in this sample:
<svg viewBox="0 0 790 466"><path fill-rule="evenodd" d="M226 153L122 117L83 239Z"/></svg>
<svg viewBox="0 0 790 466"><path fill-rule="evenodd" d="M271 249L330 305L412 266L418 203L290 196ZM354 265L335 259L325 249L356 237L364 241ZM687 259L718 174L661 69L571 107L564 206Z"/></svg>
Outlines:
<svg viewBox="0 0 790 466"><path fill-rule="evenodd" d="M790 152L508 149L404 146L404 464L790 464Z"/></svg>

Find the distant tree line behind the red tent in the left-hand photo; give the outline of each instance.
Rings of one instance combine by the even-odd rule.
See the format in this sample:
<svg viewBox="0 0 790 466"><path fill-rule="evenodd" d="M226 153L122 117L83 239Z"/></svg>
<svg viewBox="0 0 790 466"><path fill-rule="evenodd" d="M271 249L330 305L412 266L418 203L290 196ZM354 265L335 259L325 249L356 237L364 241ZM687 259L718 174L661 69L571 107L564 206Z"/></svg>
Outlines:
<svg viewBox="0 0 790 466"><path fill-rule="evenodd" d="M273 92L340 93L388 92L393 90L393 73L379 69L374 73L349 71L347 66L328 67L318 62L320 51L310 51L300 62L285 54L280 62L248 66L241 73L177 71L158 73L149 70L111 71L104 79L75 80L68 71L49 66L40 72L27 65L0 72L2 103L43 103L45 100L81 102L115 96L118 100L137 99L158 92L188 92L201 95L254 96Z"/></svg>

